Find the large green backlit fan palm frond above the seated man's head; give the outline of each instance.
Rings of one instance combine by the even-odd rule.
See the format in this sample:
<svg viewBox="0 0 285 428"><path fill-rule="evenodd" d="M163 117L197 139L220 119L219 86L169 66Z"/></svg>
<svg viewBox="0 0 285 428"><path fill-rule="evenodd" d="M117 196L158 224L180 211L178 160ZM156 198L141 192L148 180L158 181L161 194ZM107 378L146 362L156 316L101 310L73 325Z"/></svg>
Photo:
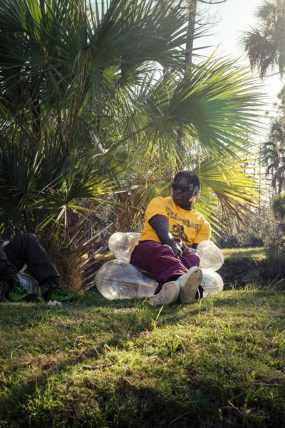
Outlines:
<svg viewBox="0 0 285 428"><path fill-rule="evenodd" d="M261 126L264 99L259 85L248 71L225 60L195 66L182 81L162 77L137 100L137 111L125 121L124 138L111 148L131 140L128 131L137 129L133 142L140 134L140 144L156 146L165 164L177 153L177 131L183 128L188 148L197 140L204 153L246 153L251 136Z"/></svg>

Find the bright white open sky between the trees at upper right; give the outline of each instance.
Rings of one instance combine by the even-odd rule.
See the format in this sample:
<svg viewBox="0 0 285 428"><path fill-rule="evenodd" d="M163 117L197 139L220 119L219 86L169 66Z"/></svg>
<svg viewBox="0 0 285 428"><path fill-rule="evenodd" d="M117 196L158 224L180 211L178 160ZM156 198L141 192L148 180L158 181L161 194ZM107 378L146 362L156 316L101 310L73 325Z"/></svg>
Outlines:
<svg viewBox="0 0 285 428"><path fill-rule="evenodd" d="M207 54L209 55L217 47L218 56L242 57L241 63L249 64L240 39L244 31L248 31L251 26L257 26L255 13L261 3L262 0L227 0L225 3L212 4L211 6L201 7L200 4L199 10L202 11L203 16L206 17L209 14L211 21L218 21L210 30L212 35L203 40L203 44L213 45L207 49ZM269 104L274 103L276 95L282 87L281 78L279 76L264 78L261 85L264 86ZM269 111L271 111L270 106Z"/></svg>

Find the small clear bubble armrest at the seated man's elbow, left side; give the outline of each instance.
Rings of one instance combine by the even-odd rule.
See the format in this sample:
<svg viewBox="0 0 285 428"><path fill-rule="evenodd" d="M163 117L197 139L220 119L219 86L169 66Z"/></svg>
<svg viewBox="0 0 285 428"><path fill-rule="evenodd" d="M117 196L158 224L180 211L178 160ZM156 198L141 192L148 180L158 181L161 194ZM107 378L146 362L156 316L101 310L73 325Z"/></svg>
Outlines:
<svg viewBox="0 0 285 428"><path fill-rule="evenodd" d="M110 236L108 241L108 247L111 253L115 255L118 260L124 260L125 262L130 261L130 255L138 245L140 240L140 233L135 232L116 232Z"/></svg>

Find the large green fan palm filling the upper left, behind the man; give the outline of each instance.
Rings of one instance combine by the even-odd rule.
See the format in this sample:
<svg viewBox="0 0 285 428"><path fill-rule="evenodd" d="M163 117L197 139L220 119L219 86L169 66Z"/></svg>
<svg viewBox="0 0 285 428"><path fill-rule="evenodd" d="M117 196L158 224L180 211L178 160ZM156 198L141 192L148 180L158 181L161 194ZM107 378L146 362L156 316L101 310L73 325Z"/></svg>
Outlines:
<svg viewBox="0 0 285 428"><path fill-rule="evenodd" d="M108 195L132 185L143 203L174 174L180 129L187 153L193 141L201 148L202 163L187 167L204 183L212 220L218 201L233 213L254 203L256 183L237 153L249 153L259 124L257 83L217 58L185 75L188 16L172 0L161 8L155 0L1 1L4 233L68 229L71 213L96 215Z"/></svg>

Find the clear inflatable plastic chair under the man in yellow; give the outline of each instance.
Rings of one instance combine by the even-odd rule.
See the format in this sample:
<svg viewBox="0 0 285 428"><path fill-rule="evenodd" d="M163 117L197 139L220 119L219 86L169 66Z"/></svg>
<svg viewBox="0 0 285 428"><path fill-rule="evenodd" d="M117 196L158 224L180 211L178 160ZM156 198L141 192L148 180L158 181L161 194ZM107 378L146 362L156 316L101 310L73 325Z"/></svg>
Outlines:
<svg viewBox="0 0 285 428"><path fill-rule="evenodd" d="M95 282L98 291L108 300L150 297L154 294L157 282L130 265L130 255L140 240L140 233L113 233L108 245L115 260L105 263L96 272ZM212 297L222 291L222 277L214 272L224 263L222 251L212 241L199 243L197 254L202 268L202 287L204 297Z"/></svg>

